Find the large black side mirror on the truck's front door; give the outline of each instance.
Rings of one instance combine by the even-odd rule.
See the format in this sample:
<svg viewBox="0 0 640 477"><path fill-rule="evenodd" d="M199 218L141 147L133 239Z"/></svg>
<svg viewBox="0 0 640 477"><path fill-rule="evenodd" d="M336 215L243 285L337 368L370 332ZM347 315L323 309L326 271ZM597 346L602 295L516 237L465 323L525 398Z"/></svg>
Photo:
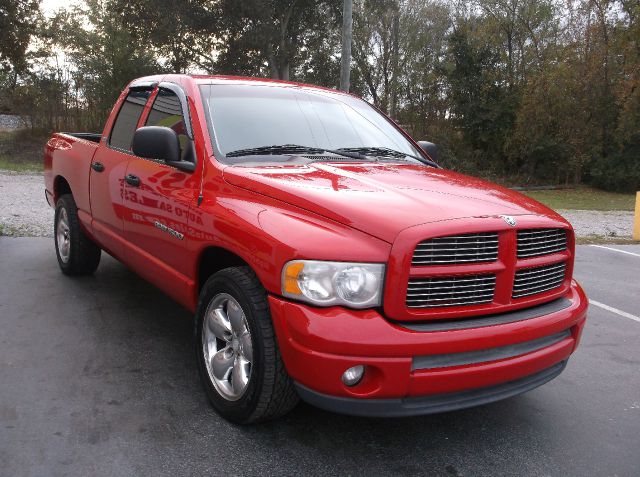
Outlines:
<svg viewBox="0 0 640 477"><path fill-rule="evenodd" d="M160 159L181 171L193 172L195 163L180 158L180 140L171 128L144 126L136 130L131 143L132 152L146 159Z"/></svg>

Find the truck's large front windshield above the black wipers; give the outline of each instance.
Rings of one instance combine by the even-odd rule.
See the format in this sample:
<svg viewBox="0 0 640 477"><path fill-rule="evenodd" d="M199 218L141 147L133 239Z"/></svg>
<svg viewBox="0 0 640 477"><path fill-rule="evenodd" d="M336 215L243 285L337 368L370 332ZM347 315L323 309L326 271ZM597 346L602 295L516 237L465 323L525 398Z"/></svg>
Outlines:
<svg viewBox="0 0 640 477"><path fill-rule="evenodd" d="M200 91L214 149L224 156L298 145L329 151L380 148L402 153L395 160L403 154L423 157L383 115L352 96L267 85L213 84L200 86ZM403 160L418 162L411 157Z"/></svg>

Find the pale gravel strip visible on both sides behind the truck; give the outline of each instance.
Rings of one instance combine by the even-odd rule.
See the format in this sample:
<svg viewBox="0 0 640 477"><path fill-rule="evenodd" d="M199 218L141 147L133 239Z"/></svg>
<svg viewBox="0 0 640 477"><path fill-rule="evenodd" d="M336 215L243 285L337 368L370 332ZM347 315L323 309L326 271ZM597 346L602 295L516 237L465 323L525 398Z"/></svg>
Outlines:
<svg viewBox="0 0 640 477"><path fill-rule="evenodd" d="M631 239L633 212L558 210L578 238ZM52 237L53 209L44 197L42 174L0 171L0 235Z"/></svg>

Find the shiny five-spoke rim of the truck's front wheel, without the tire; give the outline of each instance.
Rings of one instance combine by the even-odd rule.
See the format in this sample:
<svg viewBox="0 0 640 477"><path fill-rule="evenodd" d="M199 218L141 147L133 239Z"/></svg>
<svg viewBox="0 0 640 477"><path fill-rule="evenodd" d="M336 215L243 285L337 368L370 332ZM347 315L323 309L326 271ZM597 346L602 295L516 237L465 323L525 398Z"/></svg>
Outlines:
<svg viewBox="0 0 640 477"><path fill-rule="evenodd" d="M214 296L202 320L202 350L209 379L218 393L237 401L247 390L253 344L242 307L227 293Z"/></svg>

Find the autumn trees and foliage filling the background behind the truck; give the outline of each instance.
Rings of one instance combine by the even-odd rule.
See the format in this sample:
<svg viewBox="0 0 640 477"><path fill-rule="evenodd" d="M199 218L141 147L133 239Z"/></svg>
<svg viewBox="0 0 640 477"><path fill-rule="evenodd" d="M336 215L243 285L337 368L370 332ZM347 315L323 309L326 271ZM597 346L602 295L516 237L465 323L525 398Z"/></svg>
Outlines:
<svg viewBox="0 0 640 477"><path fill-rule="evenodd" d="M0 0L0 111L100 131L161 72L337 87L341 0ZM640 188L637 0L355 0L352 91L446 167L510 183Z"/></svg>

